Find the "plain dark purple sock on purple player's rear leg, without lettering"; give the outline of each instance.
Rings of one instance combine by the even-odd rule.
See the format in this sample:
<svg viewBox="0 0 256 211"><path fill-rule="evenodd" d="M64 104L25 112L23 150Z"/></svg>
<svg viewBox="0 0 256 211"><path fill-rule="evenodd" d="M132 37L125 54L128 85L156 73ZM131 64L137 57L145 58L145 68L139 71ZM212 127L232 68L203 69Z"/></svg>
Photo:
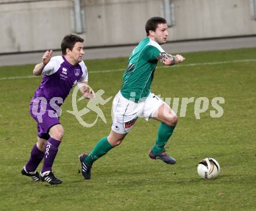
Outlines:
<svg viewBox="0 0 256 211"><path fill-rule="evenodd" d="M44 158L44 152L41 152L37 148L37 144L35 144L31 150L29 162L27 162L25 166L27 172L34 172L43 158Z"/></svg>

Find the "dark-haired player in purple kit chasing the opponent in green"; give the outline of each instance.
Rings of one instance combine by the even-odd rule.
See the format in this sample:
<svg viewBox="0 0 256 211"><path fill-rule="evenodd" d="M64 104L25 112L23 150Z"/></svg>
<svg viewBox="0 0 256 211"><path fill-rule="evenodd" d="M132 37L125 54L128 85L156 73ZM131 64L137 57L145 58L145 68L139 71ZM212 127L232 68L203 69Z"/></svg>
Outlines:
<svg viewBox="0 0 256 211"><path fill-rule="evenodd" d="M46 51L42 62L35 65L33 74L43 75L41 84L30 102L30 114L37 121L37 143L31 150L29 162L23 167L22 174L34 181L46 181L58 185L62 181L52 173L52 164L61 144L64 130L59 121L60 106L73 85L79 84L85 98L93 98L94 92L88 86L87 67L84 55L83 38L69 34L61 43L62 56L53 56ZM40 173L37 167L44 159Z"/></svg>

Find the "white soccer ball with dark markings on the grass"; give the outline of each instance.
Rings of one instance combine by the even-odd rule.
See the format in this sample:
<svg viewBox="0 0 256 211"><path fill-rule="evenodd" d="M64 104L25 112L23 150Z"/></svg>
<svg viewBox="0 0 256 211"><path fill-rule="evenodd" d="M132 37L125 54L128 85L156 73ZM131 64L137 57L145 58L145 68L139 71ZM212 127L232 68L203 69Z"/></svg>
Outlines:
<svg viewBox="0 0 256 211"><path fill-rule="evenodd" d="M221 167L217 160L213 158L205 158L198 163L197 173L201 178L213 179L219 175Z"/></svg>

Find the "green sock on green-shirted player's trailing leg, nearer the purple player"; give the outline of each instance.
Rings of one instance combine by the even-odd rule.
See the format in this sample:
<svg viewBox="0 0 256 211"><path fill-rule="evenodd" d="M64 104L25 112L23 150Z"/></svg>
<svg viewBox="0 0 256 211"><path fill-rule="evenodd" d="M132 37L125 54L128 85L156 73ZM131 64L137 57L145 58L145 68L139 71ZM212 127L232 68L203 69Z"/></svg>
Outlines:
<svg viewBox="0 0 256 211"><path fill-rule="evenodd" d="M105 155L112 148L113 146L108 142L108 137L102 138L86 157L86 164L92 165L95 160L101 158L101 156Z"/></svg>

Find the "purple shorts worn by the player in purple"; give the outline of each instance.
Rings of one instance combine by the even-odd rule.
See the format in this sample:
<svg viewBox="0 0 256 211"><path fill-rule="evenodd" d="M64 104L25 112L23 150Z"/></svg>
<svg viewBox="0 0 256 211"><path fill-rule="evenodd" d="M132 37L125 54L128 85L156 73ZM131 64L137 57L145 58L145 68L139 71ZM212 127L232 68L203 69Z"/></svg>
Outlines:
<svg viewBox="0 0 256 211"><path fill-rule="evenodd" d="M34 98L30 102L30 115L37 121L38 137L45 140L50 137L50 128L56 124L61 124L56 111L51 106L48 106L47 102L38 101Z"/></svg>

